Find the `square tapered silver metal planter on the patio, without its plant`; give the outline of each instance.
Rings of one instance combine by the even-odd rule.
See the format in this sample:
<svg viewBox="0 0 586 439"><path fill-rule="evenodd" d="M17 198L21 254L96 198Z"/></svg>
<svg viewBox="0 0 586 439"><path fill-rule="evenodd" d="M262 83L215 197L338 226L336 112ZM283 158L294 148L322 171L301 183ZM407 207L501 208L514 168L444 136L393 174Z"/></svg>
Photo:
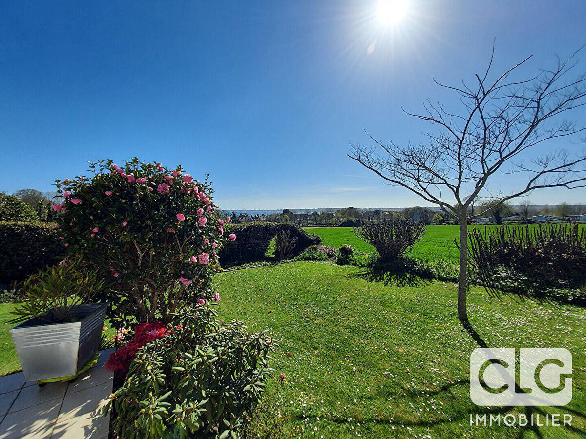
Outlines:
<svg viewBox="0 0 586 439"><path fill-rule="evenodd" d="M77 305L71 323L33 317L10 330L27 381L75 375L100 348L105 304Z"/></svg>

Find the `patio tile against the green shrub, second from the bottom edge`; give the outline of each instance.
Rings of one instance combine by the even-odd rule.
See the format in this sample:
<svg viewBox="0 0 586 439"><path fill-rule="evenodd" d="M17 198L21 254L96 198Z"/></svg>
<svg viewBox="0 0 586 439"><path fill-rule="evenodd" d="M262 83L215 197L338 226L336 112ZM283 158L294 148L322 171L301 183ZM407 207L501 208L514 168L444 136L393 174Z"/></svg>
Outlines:
<svg viewBox="0 0 586 439"><path fill-rule="evenodd" d="M112 383L107 382L66 395L59 417L57 417L57 423L62 423L74 417L85 416L86 414L101 416L101 410L110 400L111 392Z"/></svg>

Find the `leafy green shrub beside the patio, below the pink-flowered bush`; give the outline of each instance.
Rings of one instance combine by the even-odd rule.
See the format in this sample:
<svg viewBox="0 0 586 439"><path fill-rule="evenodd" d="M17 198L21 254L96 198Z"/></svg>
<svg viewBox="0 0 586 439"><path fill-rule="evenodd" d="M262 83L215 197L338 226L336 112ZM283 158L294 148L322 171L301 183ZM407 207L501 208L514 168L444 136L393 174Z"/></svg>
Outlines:
<svg viewBox="0 0 586 439"><path fill-rule="evenodd" d="M273 369L277 347L266 331L220 325L208 306L185 308L168 333L137 352L106 407L113 431L127 439L237 437Z"/></svg>

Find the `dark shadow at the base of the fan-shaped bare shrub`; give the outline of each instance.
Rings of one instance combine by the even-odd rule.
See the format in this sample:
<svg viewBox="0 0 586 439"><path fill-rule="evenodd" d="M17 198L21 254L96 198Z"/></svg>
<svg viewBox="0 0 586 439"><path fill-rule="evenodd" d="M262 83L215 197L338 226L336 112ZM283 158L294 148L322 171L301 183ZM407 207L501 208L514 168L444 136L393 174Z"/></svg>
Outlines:
<svg viewBox="0 0 586 439"><path fill-rule="evenodd" d="M422 286L434 279L430 270L411 258L376 262L372 267L346 276L397 287Z"/></svg>

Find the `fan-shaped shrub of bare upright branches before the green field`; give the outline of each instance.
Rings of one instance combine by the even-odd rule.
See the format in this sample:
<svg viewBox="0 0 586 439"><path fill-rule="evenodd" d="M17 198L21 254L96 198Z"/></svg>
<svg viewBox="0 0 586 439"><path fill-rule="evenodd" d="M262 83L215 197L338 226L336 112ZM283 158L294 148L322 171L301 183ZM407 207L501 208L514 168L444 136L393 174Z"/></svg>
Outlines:
<svg viewBox="0 0 586 439"><path fill-rule="evenodd" d="M413 246L423 239L426 229L421 222L391 219L356 227L353 232L372 245L383 259L394 260L413 250Z"/></svg>

